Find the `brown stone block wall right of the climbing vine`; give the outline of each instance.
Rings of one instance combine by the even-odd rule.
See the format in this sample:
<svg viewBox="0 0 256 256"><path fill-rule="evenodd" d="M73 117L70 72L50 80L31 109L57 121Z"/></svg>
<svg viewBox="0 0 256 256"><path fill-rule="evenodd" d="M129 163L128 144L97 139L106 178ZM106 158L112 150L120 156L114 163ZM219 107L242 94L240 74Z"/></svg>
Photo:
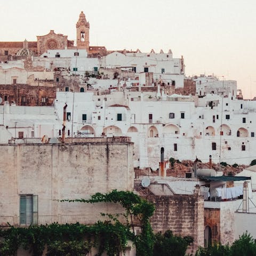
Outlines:
<svg viewBox="0 0 256 256"><path fill-rule="evenodd" d="M204 201L197 195L149 196L155 204L151 225L155 232L173 231L175 235L192 236L195 242L189 252L204 245Z"/></svg>

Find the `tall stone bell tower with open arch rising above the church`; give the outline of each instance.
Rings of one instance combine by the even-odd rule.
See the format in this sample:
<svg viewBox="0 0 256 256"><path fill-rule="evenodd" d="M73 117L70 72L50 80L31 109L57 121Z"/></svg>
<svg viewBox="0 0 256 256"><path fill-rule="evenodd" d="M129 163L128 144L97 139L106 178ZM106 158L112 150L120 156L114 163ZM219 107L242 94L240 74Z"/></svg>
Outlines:
<svg viewBox="0 0 256 256"><path fill-rule="evenodd" d="M90 23L86 21L85 14L82 11L76 22L76 43L77 49L86 49L87 53L89 53L89 30Z"/></svg>

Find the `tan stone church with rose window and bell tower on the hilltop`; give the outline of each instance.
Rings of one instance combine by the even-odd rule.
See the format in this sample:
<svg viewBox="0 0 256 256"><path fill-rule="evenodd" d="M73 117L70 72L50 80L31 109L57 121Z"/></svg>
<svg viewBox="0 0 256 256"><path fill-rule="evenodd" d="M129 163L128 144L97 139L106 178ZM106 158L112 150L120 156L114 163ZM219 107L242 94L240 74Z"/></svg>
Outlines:
<svg viewBox="0 0 256 256"><path fill-rule="evenodd" d="M49 34L37 36L37 41L27 42L0 42L0 61L22 59L27 56L40 56L47 50L83 49L88 57L100 57L107 55L105 46L90 46L89 41L90 23L87 22L83 11L79 14L76 22L76 44L69 40L68 36L56 34L50 30Z"/></svg>

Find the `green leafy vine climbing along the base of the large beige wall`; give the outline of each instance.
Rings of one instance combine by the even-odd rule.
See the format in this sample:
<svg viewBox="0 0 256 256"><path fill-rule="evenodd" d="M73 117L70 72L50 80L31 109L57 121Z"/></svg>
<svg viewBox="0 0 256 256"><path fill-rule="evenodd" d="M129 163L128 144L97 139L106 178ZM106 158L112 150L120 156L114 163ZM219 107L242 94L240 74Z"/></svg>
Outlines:
<svg viewBox="0 0 256 256"><path fill-rule="evenodd" d="M20 246L32 253L42 255L47 246L47 256L86 255L92 247L98 249L97 255L106 252L108 256L119 255L132 241L138 256L153 255L154 234L149 218L154 213L154 205L130 191L113 190L107 194L96 193L90 199L68 200L69 202L119 203L125 209L126 223L118 220L118 215L105 214L108 221L98 221L92 226L79 223L59 225L30 226L28 228L0 229L0 255L14 255ZM62 202L62 201L61 201ZM134 234L133 219L140 223L141 234ZM133 231L130 231L130 230ZM85 241L86 240L86 241Z"/></svg>

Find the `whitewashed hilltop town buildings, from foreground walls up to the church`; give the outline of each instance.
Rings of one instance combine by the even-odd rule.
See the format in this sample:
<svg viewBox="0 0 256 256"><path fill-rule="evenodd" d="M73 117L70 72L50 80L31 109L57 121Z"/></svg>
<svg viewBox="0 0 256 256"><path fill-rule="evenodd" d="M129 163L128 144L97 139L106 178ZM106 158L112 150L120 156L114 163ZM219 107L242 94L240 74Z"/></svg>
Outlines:
<svg viewBox="0 0 256 256"><path fill-rule="evenodd" d="M154 203L155 233L192 236L189 253L256 238L256 100L187 77L170 49L91 46L83 12L75 29L0 42L0 226L92 225L121 206L65 200L117 189Z"/></svg>

